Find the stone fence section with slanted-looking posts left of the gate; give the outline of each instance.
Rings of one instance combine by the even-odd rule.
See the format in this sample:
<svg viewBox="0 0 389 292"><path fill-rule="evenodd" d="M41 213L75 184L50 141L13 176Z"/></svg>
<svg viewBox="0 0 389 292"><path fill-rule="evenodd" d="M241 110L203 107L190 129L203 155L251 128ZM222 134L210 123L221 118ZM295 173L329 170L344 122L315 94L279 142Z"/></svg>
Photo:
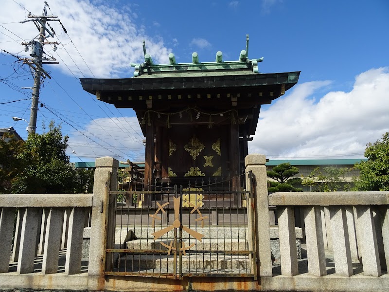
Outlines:
<svg viewBox="0 0 389 292"><path fill-rule="evenodd" d="M61 247L67 248L65 274L80 273L84 222L92 198L93 194L0 195L0 273L9 271L10 256L17 274L33 273L38 255L43 255L42 274L57 273Z"/></svg>

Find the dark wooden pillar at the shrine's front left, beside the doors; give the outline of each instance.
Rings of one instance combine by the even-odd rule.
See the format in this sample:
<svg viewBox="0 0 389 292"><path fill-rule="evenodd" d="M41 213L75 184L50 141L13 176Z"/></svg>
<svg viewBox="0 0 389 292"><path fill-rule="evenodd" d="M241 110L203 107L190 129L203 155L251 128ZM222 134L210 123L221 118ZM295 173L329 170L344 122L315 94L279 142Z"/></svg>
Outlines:
<svg viewBox="0 0 389 292"><path fill-rule="evenodd" d="M145 155L145 165L144 165L144 183L145 189L150 190L151 187L149 185L154 184L154 161L155 161L155 147L154 147L154 135L155 135L155 127L153 116L150 115L150 125L146 124L146 155ZM143 204L145 206L150 206L151 203L151 195L145 194Z"/></svg>

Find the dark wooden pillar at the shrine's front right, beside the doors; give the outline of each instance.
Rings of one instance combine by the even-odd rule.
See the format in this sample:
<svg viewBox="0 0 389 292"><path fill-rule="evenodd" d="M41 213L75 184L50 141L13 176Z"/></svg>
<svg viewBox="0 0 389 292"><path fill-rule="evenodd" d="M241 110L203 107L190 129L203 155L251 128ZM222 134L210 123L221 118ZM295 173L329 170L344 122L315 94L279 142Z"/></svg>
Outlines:
<svg viewBox="0 0 389 292"><path fill-rule="evenodd" d="M232 114L234 113L232 112ZM240 178L237 177L240 174L239 162L239 124L236 121L230 126L230 176L233 178L233 191L240 190ZM238 207L242 205L241 194L234 196L233 205Z"/></svg>

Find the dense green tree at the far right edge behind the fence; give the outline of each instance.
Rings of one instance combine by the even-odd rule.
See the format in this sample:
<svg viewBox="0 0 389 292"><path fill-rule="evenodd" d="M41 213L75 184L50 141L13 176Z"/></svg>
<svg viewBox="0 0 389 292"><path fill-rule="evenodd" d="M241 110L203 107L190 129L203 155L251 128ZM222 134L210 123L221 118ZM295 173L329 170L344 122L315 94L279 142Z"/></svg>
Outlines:
<svg viewBox="0 0 389 292"><path fill-rule="evenodd" d="M389 132L382 135L382 140L366 145L365 157L368 161L355 164L360 170L356 187L362 191L389 190Z"/></svg>

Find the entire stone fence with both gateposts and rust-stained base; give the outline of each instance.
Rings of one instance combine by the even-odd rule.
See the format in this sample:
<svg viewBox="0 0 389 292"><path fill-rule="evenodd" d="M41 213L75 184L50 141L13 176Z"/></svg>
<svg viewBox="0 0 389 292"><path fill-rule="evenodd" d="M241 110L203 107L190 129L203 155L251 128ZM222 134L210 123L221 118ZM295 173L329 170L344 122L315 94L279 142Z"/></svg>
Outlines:
<svg viewBox="0 0 389 292"><path fill-rule="evenodd" d="M0 195L0 290L389 291L389 192L268 195L265 156L248 155L245 163L252 174L246 185L256 279L106 275L116 214L109 191L116 190L119 164L104 157L96 160L93 194ZM269 205L277 207L281 266L271 256ZM295 206L305 223L303 259L297 257ZM82 258L90 218L89 258Z"/></svg>

